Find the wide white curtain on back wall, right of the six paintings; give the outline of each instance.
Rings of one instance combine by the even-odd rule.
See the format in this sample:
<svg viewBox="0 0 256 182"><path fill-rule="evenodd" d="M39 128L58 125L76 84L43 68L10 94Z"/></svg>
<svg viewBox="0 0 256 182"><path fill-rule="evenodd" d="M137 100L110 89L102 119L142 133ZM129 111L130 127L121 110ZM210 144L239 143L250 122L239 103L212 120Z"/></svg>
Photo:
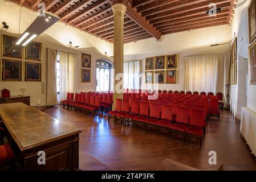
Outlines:
<svg viewBox="0 0 256 182"><path fill-rule="evenodd" d="M229 84L230 53L185 57L185 90L224 93Z"/></svg>

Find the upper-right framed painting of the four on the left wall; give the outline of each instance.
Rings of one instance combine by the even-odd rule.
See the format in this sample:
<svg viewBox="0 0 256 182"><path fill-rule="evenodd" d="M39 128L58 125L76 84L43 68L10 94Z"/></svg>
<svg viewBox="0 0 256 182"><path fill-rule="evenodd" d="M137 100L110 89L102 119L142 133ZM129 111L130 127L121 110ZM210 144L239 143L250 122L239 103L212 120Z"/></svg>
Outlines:
<svg viewBox="0 0 256 182"><path fill-rule="evenodd" d="M38 42L30 42L25 48L25 59L41 60L42 44Z"/></svg>

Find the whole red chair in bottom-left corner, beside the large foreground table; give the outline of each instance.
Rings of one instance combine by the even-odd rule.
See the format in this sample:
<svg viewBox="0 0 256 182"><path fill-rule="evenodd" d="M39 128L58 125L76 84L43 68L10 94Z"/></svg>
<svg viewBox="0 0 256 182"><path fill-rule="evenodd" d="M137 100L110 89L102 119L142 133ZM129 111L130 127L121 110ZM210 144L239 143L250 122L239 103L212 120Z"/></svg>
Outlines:
<svg viewBox="0 0 256 182"><path fill-rule="evenodd" d="M11 165L15 168L16 156L9 144L0 146L0 168Z"/></svg>

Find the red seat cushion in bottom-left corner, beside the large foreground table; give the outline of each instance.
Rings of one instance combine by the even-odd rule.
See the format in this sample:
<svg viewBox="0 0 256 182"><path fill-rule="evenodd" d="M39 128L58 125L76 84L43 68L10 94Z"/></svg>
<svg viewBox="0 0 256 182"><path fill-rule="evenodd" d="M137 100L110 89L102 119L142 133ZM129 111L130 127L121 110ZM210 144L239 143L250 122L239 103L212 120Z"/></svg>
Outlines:
<svg viewBox="0 0 256 182"><path fill-rule="evenodd" d="M12 160L15 160L15 155L11 146L9 144L0 146L0 165L11 162Z"/></svg>

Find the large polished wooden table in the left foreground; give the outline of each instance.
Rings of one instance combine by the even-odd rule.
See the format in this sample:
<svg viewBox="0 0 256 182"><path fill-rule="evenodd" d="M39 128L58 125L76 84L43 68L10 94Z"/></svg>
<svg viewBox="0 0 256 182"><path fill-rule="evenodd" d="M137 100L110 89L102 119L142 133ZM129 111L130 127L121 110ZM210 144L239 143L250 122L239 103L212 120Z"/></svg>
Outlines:
<svg viewBox="0 0 256 182"><path fill-rule="evenodd" d="M0 104L7 138L25 170L78 170L79 133L48 114L21 102ZM46 153L39 165L38 151Z"/></svg>

